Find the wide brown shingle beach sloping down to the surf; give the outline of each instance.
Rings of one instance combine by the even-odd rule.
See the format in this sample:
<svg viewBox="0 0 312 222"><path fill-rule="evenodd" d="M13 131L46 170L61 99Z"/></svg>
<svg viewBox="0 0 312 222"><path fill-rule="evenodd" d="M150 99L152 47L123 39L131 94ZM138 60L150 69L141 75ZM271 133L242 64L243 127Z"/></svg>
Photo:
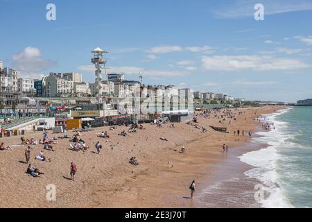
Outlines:
<svg viewBox="0 0 312 222"><path fill-rule="evenodd" d="M40 178L26 173L26 145L19 145L20 136L1 138L0 141L13 150L0 151L0 184L3 189L0 207L235 207L231 203L231 190L228 198L223 196L220 199L222 203L218 203L218 194L198 199L196 195L202 194L209 183L218 181L218 175L224 178L248 169L249 166L232 160L243 152L259 148L248 146L248 131L257 132L260 124L253 119L282 108L232 109L236 121L231 119L230 124L229 119L220 121L223 110L210 114L210 118L198 116L198 125L205 127L206 133L187 123L175 123L175 128L170 128L169 124L163 124L162 128L144 124L145 130L129 133L129 137L118 135L122 130L128 132L125 126L118 126L116 130L109 130L108 126L96 128L82 133L81 137L90 146L88 152L71 151L69 139L58 139L58 144L53 146L55 152L44 151L51 157L51 162L34 160L43 145L32 145L31 163L44 172ZM217 132L209 126L227 127L229 133ZM238 129L244 130L245 135L235 136L233 132ZM105 130L110 139L96 137ZM67 135L71 137L73 133L70 131ZM59 136L49 132L49 137ZM24 137L39 141L42 132L27 132ZM168 141L159 139L161 137ZM103 145L100 155L94 148L97 141ZM229 147L227 155L223 153L223 144ZM182 146L185 153L179 153ZM137 157L139 165L130 164L130 157ZM72 161L78 167L75 181L69 180ZM222 166L227 166L226 171ZM196 180L196 194L191 200L189 184L193 179ZM55 201L46 200L46 186L50 184L56 187ZM232 181L232 185L245 189L246 183ZM253 189L252 183L247 189ZM250 201L249 207L259 207L250 199L246 201Z"/></svg>

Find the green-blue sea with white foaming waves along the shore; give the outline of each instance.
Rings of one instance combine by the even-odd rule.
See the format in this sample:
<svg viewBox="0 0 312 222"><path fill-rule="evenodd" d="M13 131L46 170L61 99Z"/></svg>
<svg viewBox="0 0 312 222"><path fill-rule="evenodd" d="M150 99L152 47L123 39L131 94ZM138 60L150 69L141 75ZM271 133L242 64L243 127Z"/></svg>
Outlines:
<svg viewBox="0 0 312 222"><path fill-rule="evenodd" d="M312 207L312 107L293 107L265 114L273 123L254 137L267 148L239 157L253 169L245 175L260 181L257 201L262 207Z"/></svg>

